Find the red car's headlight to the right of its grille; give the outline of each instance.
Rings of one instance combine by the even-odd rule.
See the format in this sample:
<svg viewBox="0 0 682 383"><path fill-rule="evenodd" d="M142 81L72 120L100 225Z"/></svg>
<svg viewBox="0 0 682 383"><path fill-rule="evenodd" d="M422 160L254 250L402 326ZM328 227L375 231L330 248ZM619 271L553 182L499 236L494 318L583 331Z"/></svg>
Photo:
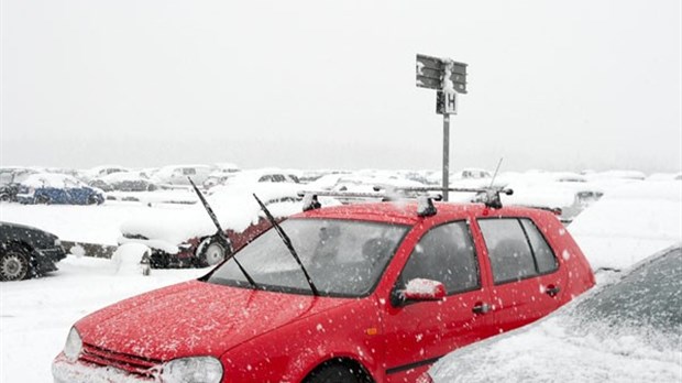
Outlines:
<svg viewBox="0 0 682 383"><path fill-rule="evenodd" d="M218 383L222 379L222 364L213 357L176 359L164 364L161 377L172 383Z"/></svg>

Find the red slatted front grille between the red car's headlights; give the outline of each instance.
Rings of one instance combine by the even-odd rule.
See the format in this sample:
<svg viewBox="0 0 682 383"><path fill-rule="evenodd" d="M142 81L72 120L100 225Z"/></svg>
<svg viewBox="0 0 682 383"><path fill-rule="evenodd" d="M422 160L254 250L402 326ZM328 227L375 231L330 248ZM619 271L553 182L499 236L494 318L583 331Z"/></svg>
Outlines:
<svg viewBox="0 0 682 383"><path fill-rule="evenodd" d="M162 361L110 351L84 343L80 360L102 366L112 366L145 379L154 379L161 371Z"/></svg>

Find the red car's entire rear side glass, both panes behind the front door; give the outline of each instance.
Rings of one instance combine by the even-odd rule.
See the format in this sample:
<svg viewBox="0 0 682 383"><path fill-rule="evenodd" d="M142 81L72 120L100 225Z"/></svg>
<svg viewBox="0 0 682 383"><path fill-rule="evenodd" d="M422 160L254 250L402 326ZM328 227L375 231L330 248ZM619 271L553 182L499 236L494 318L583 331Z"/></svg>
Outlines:
<svg viewBox="0 0 682 383"><path fill-rule="evenodd" d="M558 267L549 244L529 219L481 219L495 284L547 274Z"/></svg>

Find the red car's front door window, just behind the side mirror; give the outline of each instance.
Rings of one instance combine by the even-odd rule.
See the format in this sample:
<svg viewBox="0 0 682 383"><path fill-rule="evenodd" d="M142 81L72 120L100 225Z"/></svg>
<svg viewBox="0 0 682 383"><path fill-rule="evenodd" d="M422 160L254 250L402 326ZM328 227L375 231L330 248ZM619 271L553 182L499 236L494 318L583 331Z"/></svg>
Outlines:
<svg viewBox="0 0 682 383"><path fill-rule="evenodd" d="M465 221L436 227L419 240L403 270L400 284L414 278L441 282L448 294L480 286L479 261Z"/></svg>

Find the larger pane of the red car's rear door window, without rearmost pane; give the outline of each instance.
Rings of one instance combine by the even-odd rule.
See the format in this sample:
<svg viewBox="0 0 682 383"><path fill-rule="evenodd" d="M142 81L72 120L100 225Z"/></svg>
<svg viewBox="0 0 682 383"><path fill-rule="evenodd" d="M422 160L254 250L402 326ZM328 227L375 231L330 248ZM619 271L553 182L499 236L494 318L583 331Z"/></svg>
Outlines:
<svg viewBox="0 0 682 383"><path fill-rule="evenodd" d="M530 245L518 219L481 219L479 226L496 284L537 274Z"/></svg>

